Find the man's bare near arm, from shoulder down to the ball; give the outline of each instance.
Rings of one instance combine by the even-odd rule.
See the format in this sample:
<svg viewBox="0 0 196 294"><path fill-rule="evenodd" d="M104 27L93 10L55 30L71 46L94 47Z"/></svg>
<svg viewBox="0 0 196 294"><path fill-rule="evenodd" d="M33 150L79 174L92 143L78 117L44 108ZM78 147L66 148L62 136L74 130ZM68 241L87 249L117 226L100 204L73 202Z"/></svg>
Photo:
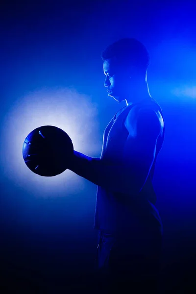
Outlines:
<svg viewBox="0 0 196 294"><path fill-rule="evenodd" d="M71 171L111 192L136 195L144 186L156 150L156 141L162 130L157 114L152 110L139 112L135 123L127 117L129 136L125 142L122 164L107 165L74 151Z"/></svg>

